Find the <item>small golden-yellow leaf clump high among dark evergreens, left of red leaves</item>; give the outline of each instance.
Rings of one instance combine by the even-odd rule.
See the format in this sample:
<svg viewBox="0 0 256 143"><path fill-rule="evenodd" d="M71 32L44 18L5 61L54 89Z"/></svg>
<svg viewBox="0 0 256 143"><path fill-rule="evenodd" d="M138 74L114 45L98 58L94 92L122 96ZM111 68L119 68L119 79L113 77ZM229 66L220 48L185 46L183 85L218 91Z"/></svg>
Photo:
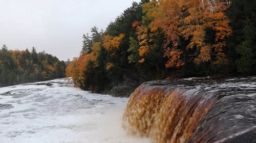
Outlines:
<svg viewBox="0 0 256 143"><path fill-rule="evenodd" d="M110 35L105 35L103 37L104 41L103 41L103 47L111 52L110 56L114 56L116 54L116 50L119 49L119 46L121 44L121 41L124 38L124 34L120 34L119 36L116 37L112 37Z"/></svg>

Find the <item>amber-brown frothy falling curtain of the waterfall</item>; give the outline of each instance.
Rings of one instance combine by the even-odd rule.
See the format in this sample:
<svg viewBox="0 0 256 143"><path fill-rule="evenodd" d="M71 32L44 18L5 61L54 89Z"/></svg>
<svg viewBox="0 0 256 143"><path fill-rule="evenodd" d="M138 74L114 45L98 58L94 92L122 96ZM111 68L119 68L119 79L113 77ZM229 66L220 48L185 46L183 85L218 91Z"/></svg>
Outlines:
<svg viewBox="0 0 256 143"><path fill-rule="evenodd" d="M185 142L215 102L184 90L140 86L126 106L123 126L154 142Z"/></svg>

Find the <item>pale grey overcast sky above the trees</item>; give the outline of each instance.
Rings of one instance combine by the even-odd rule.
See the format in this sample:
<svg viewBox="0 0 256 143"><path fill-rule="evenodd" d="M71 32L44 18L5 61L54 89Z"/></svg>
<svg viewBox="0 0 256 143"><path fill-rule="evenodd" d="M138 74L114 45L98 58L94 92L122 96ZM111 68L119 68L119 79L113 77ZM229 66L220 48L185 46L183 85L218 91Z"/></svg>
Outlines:
<svg viewBox="0 0 256 143"><path fill-rule="evenodd" d="M139 0L0 0L0 46L36 47L59 60L79 56L82 35L105 30L132 2Z"/></svg>

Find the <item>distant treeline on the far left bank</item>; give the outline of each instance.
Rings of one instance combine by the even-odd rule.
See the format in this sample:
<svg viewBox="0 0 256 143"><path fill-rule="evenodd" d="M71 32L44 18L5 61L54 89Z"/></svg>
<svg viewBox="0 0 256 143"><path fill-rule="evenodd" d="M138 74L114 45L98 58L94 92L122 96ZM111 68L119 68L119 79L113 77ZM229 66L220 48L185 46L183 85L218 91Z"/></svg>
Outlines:
<svg viewBox="0 0 256 143"><path fill-rule="evenodd" d="M0 49L0 87L65 77L66 64L43 52Z"/></svg>

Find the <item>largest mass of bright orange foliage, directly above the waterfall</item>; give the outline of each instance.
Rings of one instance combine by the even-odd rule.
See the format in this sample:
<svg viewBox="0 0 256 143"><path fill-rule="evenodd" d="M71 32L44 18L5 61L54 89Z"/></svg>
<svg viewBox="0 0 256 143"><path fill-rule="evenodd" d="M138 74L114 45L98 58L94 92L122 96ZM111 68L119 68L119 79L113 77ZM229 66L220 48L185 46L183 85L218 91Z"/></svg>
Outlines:
<svg viewBox="0 0 256 143"><path fill-rule="evenodd" d="M166 67L183 65L182 62L177 62L180 61L182 53L181 51L177 52L180 37L189 40L187 49L196 47L200 51L198 55L196 54L195 63L210 61L211 49L214 49L218 56L215 63L223 61L225 54L222 52L222 48L225 44L222 40L231 35L229 20L223 12L227 7L225 2L220 0L159 0L144 4L145 15L153 17L150 24L151 31L162 28L165 32L166 45L173 43L174 50L166 49L165 56L169 58ZM205 43L206 28L216 32L214 44Z"/></svg>

